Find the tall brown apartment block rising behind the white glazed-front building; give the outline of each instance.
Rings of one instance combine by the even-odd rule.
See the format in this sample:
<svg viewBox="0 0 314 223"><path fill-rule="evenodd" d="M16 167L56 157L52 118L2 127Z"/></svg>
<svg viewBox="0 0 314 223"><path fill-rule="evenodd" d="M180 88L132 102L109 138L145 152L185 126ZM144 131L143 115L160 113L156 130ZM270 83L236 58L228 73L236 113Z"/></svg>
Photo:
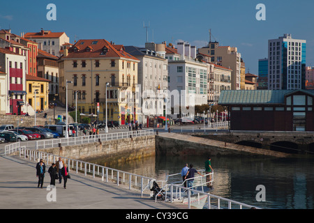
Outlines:
<svg viewBox="0 0 314 223"><path fill-rule="evenodd" d="M219 46L217 41L210 41L206 47L198 49L198 52L211 56L211 63L231 69L231 88L241 89L241 54L237 47Z"/></svg>

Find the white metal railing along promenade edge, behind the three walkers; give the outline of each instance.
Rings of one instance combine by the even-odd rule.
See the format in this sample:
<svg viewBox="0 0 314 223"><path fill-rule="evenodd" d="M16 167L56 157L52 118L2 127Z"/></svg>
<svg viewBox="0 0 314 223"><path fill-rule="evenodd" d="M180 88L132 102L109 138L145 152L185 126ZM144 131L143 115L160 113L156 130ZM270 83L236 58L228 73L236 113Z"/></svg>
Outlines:
<svg viewBox="0 0 314 223"><path fill-rule="evenodd" d="M37 162L39 159L43 159L46 165L52 162L57 162L59 160L59 155L54 155L51 153L45 153L43 151L37 151L33 149L26 148L26 146L20 146L19 143L8 145L6 147L6 155L11 153L17 153L20 157L24 159L29 159L31 161ZM62 160L67 164L70 171L74 171L76 174L79 172L84 174L84 176L90 175L93 178L101 178L102 181L114 182L118 187L119 185L127 185L128 190L135 188L140 190L141 197L144 191L149 190L149 183L154 178L149 178L146 176L140 176L137 174L131 174L126 171L120 171L118 169L112 169L110 167L104 167L98 164L93 164L90 162L84 162L81 160L70 159L68 157L61 157Z"/></svg>

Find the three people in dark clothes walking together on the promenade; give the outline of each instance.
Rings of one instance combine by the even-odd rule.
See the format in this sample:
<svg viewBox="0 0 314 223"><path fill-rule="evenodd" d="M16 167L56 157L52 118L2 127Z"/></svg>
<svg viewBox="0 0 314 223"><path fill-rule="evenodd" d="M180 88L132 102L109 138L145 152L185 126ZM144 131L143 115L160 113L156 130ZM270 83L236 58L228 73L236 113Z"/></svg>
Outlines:
<svg viewBox="0 0 314 223"><path fill-rule="evenodd" d="M43 181L45 178L45 162L43 159L36 164L36 177L38 177L38 185L37 187L43 188ZM50 185L56 185L56 180L59 180L59 183L62 183L63 178L63 187L66 189L66 183L68 178L70 178L70 174L68 173L68 167L66 163L63 162L61 157L56 163L52 163L52 165L48 169L48 173L50 174Z"/></svg>

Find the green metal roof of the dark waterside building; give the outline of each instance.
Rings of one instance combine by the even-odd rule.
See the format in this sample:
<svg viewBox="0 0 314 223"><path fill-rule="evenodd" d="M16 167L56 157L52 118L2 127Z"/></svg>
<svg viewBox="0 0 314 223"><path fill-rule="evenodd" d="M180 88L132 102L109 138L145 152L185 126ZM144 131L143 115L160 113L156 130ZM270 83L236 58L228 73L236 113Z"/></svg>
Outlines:
<svg viewBox="0 0 314 223"><path fill-rule="evenodd" d="M305 90L231 90L221 91L218 105L253 105L253 104L285 104L285 95L302 91L313 95L313 91Z"/></svg>

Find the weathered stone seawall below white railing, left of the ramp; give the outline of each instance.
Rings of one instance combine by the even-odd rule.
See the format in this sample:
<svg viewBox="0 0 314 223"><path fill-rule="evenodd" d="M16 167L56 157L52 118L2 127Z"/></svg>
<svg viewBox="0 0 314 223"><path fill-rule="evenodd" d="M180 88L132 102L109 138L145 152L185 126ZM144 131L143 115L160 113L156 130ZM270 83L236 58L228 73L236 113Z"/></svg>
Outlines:
<svg viewBox="0 0 314 223"><path fill-rule="evenodd" d="M101 165L103 166L156 155L154 135L135 137L133 139L115 139L75 146L61 146L61 148L49 148L44 151L87 162L99 158L102 160Z"/></svg>

